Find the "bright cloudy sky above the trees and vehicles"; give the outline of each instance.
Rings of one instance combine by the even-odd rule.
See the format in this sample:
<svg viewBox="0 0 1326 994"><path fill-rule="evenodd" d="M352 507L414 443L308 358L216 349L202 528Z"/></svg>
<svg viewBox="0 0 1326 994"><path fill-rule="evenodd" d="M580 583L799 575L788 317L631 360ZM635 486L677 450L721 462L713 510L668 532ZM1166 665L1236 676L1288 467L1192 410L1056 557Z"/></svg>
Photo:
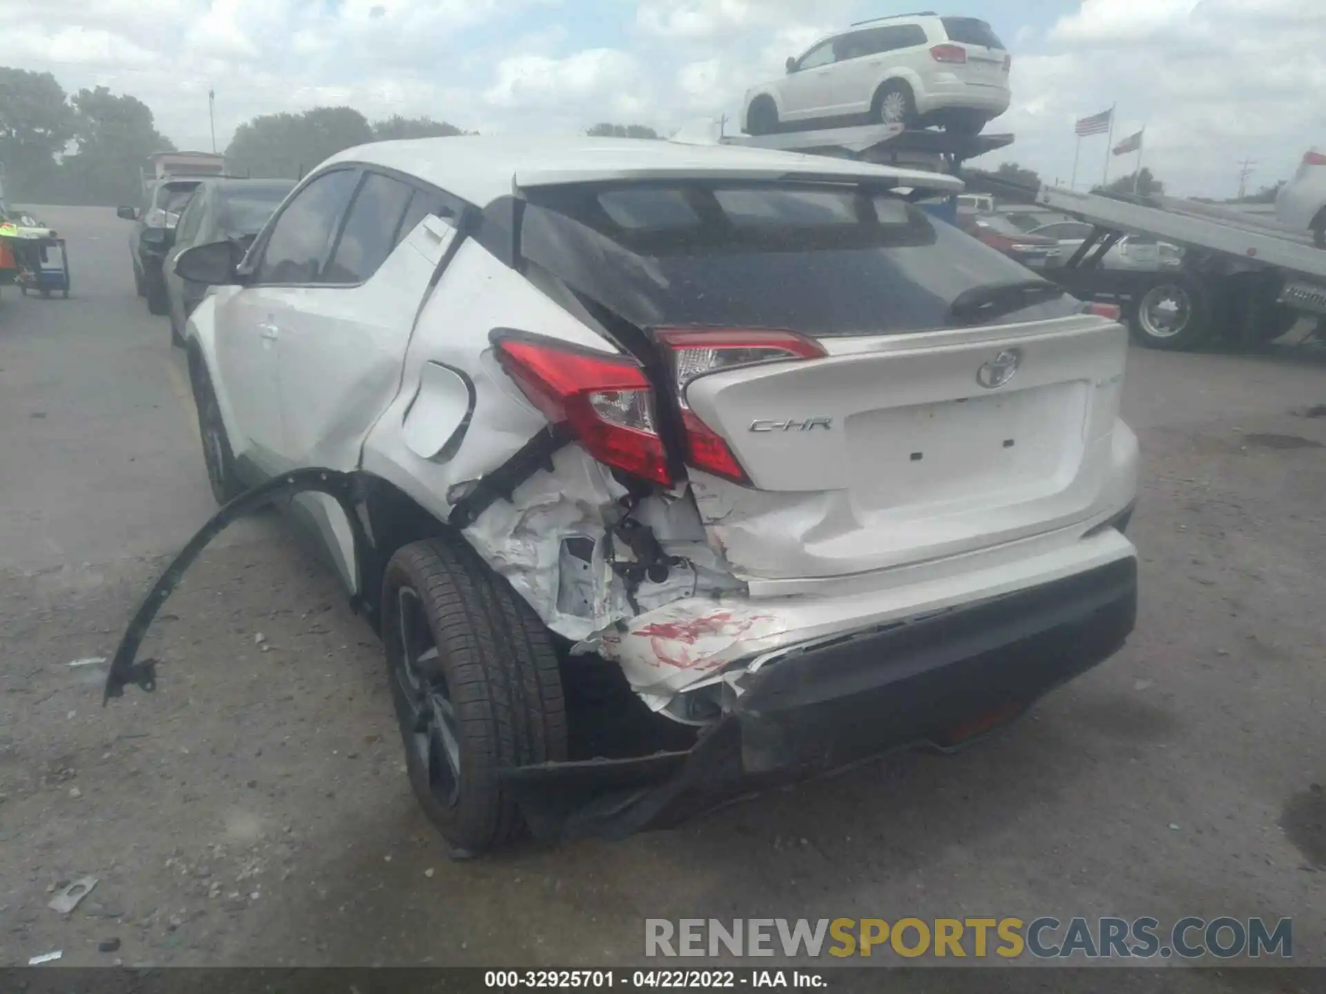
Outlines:
<svg viewBox="0 0 1326 994"><path fill-rule="evenodd" d="M0 64L66 90L133 93L182 148L256 115L349 103L370 119L427 114L484 133L570 133L597 121L660 131L737 115L789 54L916 0L0 0ZM991 131L1067 180L1078 115L1146 125L1147 163L1176 192L1229 196L1326 147L1322 0L953 0L1013 52L1013 107ZM1106 139L1082 143L1079 183ZM1131 170L1131 156L1114 171ZM981 163L985 164L985 163Z"/></svg>

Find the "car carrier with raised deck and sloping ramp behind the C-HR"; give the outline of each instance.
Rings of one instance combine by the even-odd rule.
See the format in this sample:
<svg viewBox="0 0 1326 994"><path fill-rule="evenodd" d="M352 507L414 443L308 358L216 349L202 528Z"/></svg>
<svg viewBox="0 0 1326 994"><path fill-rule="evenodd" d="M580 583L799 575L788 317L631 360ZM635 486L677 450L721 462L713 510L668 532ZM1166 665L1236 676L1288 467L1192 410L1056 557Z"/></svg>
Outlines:
<svg viewBox="0 0 1326 994"><path fill-rule="evenodd" d="M1212 338L1252 347L1280 338L1299 321L1326 339L1326 250L1270 221L1181 197L1118 197L1050 184L1026 187L963 170L968 159L1008 147L1013 135L952 135L899 125L724 135L720 126L683 130L674 140L717 142L834 155L960 176L968 190L1001 203L1034 204L1093 225L1091 236L1042 276L1083 298L1123 305L1134 338L1154 349L1193 349ZM956 212L951 199L948 216ZM941 213L936 211L936 213ZM1183 249L1159 272L1103 269L1124 235L1150 235Z"/></svg>

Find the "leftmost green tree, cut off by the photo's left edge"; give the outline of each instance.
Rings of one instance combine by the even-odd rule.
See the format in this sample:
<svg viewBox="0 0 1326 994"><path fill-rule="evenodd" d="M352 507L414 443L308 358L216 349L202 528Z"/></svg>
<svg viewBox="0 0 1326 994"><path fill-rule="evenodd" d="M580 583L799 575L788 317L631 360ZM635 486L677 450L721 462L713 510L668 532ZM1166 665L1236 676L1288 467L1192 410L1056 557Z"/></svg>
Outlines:
<svg viewBox="0 0 1326 994"><path fill-rule="evenodd" d="M11 200L40 200L74 134L65 91L50 73L0 66L0 163Z"/></svg>

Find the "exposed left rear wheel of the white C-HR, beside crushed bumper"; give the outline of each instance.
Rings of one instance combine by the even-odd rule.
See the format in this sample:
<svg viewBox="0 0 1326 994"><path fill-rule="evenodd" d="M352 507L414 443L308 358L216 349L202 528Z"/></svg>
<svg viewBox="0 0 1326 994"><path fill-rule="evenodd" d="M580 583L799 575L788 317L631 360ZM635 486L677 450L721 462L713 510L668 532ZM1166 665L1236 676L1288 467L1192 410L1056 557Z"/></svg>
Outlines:
<svg viewBox="0 0 1326 994"><path fill-rule="evenodd" d="M410 785L452 857L516 840L524 823L499 771L566 758L548 630L468 547L432 538L387 563L382 640Z"/></svg>

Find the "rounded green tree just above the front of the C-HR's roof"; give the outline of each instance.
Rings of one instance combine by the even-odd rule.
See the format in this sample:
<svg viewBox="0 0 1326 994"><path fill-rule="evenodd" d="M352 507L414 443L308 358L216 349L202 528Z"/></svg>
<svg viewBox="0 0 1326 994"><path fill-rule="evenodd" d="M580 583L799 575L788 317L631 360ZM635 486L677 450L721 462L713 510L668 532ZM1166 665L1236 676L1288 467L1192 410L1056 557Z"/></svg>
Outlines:
<svg viewBox="0 0 1326 994"><path fill-rule="evenodd" d="M232 170L252 176L298 179L328 156L373 139L369 122L353 107L314 107L240 125L225 158Z"/></svg>

